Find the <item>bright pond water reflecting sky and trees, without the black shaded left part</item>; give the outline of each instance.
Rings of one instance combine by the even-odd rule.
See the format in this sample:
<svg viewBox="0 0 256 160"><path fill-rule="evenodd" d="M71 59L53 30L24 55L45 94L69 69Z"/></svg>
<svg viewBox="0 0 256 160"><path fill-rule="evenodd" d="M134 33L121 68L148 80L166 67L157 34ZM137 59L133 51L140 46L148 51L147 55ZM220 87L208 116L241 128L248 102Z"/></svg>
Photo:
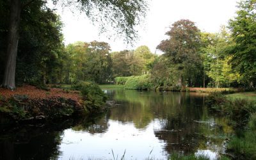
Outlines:
<svg viewBox="0 0 256 160"><path fill-rule="evenodd" d="M218 156L231 129L209 115L204 95L106 90L120 104L89 127L62 135L59 159L167 159L172 152ZM152 153L150 154L150 151Z"/></svg>

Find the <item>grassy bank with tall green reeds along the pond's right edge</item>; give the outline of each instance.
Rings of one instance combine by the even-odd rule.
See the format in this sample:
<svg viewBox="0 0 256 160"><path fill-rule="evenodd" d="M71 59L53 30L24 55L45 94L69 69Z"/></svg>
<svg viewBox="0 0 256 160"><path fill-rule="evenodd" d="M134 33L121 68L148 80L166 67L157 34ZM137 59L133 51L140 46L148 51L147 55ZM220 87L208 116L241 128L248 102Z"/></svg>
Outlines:
<svg viewBox="0 0 256 160"><path fill-rule="evenodd" d="M256 159L256 101L255 92L223 95L211 94L207 103L213 111L229 119L236 131L228 143L227 152L236 159ZM249 95L252 95L251 98Z"/></svg>

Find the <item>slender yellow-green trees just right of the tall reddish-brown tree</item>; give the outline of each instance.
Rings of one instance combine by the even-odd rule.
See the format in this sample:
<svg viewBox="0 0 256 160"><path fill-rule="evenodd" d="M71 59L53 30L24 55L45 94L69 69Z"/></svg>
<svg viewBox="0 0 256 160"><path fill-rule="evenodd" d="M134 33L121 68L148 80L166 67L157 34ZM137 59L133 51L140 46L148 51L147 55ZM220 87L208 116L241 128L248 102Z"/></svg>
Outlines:
<svg viewBox="0 0 256 160"><path fill-rule="evenodd" d="M227 55L233 42L225 26L221 26L220 33L202 33L201 36L204 73L210 78L207 83L216 88L238 83L239 74L230 65L232 56Z"/></svg>

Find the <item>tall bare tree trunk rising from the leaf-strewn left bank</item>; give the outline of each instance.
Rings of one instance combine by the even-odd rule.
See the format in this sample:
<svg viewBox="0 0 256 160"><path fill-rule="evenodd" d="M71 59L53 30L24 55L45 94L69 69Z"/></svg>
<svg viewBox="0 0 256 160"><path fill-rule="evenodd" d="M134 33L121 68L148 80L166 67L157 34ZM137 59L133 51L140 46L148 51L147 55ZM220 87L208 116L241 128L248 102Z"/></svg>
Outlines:
<svg viewBox="0 0 256 160"><path fill-rule="evenodd" d="M12 0L6 52L7 59L3 79L3 87L10 89L15 88L15 68L19 42L20 10L20 0Z"/></svg>

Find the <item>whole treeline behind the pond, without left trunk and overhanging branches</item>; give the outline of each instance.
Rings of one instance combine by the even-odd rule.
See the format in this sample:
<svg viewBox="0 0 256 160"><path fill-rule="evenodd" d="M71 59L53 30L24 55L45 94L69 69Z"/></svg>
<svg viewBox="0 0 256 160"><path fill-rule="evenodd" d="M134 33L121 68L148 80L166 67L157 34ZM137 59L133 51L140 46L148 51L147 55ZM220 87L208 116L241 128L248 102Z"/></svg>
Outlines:
<svg viewBox="0 0 256 160"><path fill-rule="evenodd" d="M191 20L174 22L166 33L169 38L157 46L163 53L157 56L145 45L120 52L111 52L106 42L64 46L60 17L36 1L21 12L16 81L104 84L113 83L115 77L140 76L138 83L154 87L252 87L256 84L255 3L241 1L236 17L219 33L202 32ZM1 79L10 12L5 5L0 1Z"/></svg>

